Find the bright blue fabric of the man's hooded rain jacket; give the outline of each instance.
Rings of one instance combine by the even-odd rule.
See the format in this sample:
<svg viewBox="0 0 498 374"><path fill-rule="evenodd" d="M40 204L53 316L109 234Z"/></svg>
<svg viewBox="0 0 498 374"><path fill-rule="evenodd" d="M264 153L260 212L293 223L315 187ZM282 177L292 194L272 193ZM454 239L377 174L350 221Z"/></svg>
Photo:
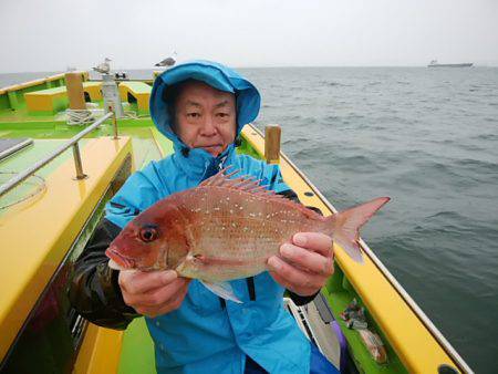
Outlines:
<svg viewBox="0 0 498 374"><path fill-rule="evenodd" d="M230 145L214 157L204 149L183 149L172 132L163 92L187 79L203 81L237 97L237 134L259 112L256 87L235 71L207 61L177 65L159 75L151 95L151 115L157 128L174 143L175 153L152 162L133 174L106 206L106 218L124 227L139 211L170 194L196 187L220 168L232 165L241 174L263 179L277 193L289 187L277 165L237 155ZM284 289L268 272L255 277L256 300L251 301L246 279L230 281L242 304L220 303L200 282L193 281L181 307L146 319L155 342L159 373L243 373L249 355L270 373L309 373L310 343L283 309Z"/></svg>

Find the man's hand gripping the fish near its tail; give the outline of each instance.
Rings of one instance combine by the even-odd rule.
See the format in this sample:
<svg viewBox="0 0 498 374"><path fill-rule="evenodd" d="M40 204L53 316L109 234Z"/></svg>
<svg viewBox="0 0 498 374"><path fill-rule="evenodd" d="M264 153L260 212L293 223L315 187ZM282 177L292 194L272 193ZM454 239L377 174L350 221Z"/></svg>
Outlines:
<svg viewBox="0 0 498 374"><path fill-rule="evenodd" d="M280 247L280 256L268 259L271 277L295 294L309 297L334 273L332 239L319 232L299 232L292 243Z"/></svg>

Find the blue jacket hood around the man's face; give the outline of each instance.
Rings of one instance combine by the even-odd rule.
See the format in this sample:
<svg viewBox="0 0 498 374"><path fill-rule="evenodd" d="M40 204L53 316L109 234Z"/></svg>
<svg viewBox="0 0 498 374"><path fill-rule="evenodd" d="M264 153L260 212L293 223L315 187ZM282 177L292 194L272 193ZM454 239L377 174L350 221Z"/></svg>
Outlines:
<svg viewBox="0 0 498 374"><path fill-rule="evenodd" d="M183 143L172 131L169 103L164 101L163 94L168 86L189 79L201 81L214 89L236 95L237 135L240 134L243 125L258 116L261 104L258 90L234 70L216 62L203 60L178 64L156 77L149 103L151 117L157 129L174 142L176 146L183 145Z"/></svg>

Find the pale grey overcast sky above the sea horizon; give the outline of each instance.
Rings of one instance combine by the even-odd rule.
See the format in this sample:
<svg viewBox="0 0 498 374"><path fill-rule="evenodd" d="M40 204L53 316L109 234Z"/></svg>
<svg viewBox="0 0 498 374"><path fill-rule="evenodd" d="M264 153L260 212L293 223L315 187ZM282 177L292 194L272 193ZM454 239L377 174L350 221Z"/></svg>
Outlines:
<svg viewBox="0 0 498 374"><path fill-rule="evenodd" d="M232 66L498 65L497 0L0 0L0 73Z"/></svg>

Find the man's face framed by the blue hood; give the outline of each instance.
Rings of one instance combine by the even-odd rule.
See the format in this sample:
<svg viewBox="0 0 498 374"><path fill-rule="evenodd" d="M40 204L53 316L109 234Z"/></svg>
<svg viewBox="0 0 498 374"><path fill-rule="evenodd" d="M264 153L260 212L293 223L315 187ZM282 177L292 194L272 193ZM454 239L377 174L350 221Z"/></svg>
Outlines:
<svg viewBox="0 0 498 374"><path fill-rule="evenodd" d="M235 95L188 82L176 102L176 135L190 148L218 156L236 136Z"/></svg>

